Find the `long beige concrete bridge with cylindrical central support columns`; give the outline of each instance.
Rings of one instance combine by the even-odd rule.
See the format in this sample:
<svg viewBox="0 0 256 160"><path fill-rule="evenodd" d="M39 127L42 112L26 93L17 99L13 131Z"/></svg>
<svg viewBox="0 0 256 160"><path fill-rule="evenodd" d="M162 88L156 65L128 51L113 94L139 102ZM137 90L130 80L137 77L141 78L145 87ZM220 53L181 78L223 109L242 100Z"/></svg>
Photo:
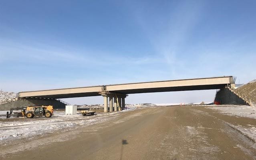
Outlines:
<svg viewBox="0 0 256 160"><path fill-rule="evenodd" d="M125 98L128 94L170 92L185 90L210 90L220 89L225 86L234 86L232 76L220 76L210 78L194 78L183 80L167 80L156 82L140 82L127 84L111 84L102 86L89 86L79 88L63 88L54 90L38 90L19 92L19 98L74 98L87 96L103 96L104 112L121 110L125 107ZM114 99L114 100L113 100ZM114 108L113 108L114 105Z"/></svg>

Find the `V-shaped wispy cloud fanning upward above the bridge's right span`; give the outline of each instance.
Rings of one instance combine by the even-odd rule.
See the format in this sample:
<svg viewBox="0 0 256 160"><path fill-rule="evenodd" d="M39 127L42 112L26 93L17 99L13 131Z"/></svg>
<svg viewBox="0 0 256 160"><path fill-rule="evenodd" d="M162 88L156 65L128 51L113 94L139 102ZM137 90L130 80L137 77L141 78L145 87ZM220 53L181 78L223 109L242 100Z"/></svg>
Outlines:
<svg viewBox="0 0 256 160"><path fill-rule="evenodd" d="M160 23L155 23L154 20L149 22L148 15L143 12L145 10L141 10L141 6L131 8L137 24L141 26L158 57L169 66L173 77L178 77L179 70L185 67L187 60L181 59L179 54L184 54L182 50L186 47L185 42L201 18L203 7L204 2L181 2L175 7L169 5L169 14L155 17Z"/></svg>

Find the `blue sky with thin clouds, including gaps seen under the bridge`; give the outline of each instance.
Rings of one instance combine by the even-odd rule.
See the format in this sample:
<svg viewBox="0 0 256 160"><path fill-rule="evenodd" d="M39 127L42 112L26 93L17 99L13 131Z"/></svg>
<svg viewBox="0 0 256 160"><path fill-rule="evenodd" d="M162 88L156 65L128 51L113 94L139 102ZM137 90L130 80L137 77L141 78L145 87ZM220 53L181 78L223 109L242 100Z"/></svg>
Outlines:
<svg viewBox="0 0 256 160"><path fill-rule="evenodd" d="M0 88L20 92L224 75L246 83L256 79L255 7L254 0L0 0ZM131 94L126 102L209 102L215 92Z"/></svg>

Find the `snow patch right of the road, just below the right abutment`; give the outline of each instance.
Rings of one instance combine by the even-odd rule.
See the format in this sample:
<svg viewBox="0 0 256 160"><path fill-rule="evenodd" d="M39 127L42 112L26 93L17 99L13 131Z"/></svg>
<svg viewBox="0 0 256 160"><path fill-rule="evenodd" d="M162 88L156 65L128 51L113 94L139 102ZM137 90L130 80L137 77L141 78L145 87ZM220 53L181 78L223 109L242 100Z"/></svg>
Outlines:
<svg viewBox="0 0 256 160"><path fill-rule="evenodd" d="M209 108L218 110L221 113L232 115L232 116L240 116L240 117L248 117L248 118L256 119L256 107L255 106L213 105Z"/></svg>

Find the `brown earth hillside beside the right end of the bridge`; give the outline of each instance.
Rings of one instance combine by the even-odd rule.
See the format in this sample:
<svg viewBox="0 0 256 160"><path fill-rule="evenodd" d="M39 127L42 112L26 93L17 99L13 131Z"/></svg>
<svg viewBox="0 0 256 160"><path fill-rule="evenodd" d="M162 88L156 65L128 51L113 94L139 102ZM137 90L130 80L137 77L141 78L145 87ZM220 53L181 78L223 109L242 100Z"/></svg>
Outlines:
<svg viewBox="0 0 256 160"><path fill-rule="evenodd" d="M243 94L248 99L251 99L252 103L256 104L256 80L244 84L243 86L236 89L237 92Z"/></svg>

